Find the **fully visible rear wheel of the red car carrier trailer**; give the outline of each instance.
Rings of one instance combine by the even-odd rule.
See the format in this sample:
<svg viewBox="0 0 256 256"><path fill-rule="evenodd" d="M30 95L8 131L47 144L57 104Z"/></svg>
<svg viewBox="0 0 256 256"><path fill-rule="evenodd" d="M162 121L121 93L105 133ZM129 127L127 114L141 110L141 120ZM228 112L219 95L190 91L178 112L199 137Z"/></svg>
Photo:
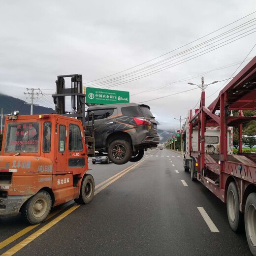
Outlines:
<svg viewBox="0 0 256 256"><path fill-rule="evenodd" d="M230 182L226 195L228 222L233 231L239 231L243 224L243 215L239 211L239 196L235 182Z"/></svg>

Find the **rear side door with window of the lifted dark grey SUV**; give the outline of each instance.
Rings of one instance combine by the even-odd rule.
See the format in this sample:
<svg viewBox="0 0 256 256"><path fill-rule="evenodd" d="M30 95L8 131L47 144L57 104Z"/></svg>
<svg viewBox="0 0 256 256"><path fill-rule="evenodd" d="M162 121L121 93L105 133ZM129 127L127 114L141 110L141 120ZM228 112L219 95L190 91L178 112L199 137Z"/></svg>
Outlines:
<svg viewBox="0 0 256 256"><path fill-rule="evenodd" d="M117 115L115 114L116 108L100 108L93 109L90 108L90 111L94 112L94 126L95 126L95 149L97 151L105 150L106 138L114 130L116 124ZM92 112L89 112L89 120L91 124Z"/></svg>

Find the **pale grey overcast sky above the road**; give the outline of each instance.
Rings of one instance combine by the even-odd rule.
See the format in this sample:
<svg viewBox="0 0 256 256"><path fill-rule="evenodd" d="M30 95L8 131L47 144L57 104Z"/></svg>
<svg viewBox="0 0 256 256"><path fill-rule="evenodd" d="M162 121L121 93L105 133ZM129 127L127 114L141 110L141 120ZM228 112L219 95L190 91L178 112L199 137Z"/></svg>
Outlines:
<svg viewBox="0 0 256 256"><path fill-rule="evenodd" d="M0 93L23 100L26 88L55 93L57 75L77 73L85 86L129 91L130 102L150 100L160 128L178 128L174 118L195 107L200 89L168 95L196 88L188 82L200 84L202 75L205 84L228 79L256 43L255 11L255 0L1 0ZM256 47L247 59L255 55ZM224 83L209 85L206 105ZM36 103L54 108L49 95Z"/></svg>

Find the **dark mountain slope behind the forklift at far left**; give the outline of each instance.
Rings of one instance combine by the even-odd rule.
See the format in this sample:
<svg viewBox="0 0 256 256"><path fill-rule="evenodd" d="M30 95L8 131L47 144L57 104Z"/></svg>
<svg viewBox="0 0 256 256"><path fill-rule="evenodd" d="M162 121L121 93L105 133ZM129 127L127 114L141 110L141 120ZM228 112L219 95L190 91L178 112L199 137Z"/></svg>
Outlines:
<svg viewBox="0 0 256 256"><path fill-rule="evenodd" d="M19 98L14 98L11 96L0 94L0 111L2 108L2 113L10 114L15 110L20 112L20 115L30 115L31 105L25 104L24 100ZM33 106L33 114L51 114L54 110L52 108ZM0 112L1 114L1 112Z"/></svg>

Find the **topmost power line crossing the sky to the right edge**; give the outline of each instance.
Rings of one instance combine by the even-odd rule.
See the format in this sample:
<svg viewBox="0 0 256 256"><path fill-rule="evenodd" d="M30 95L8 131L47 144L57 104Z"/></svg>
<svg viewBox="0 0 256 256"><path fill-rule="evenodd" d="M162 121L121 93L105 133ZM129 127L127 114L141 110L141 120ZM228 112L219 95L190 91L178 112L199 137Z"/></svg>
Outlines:
<svg viewBox="0 0 256 256"><path fill-rule="evenodd" d="M112 74L112 75L108 75L108 76L105 76L105 77L102 77L102 78L99 78L99 79L96 79L96 80L92 80L92 81L86 82L86 83L84 83L84 84L96 82L96 81L99 81L99 80L102 80L102 79L111 77L111 76L113 76L113 75L117 75L117 74L123 73L123 72L128 71L128 70L130 70L130 69L132 69L132 68L141 66L141 65L146 64L146 63L149 63L149 62L151 62L151 61L154 61L154 60L156 60L156 59L158 59L158 58L160 58L160 57L163 57L163 56L165 56L165 55L167 55L167 54L169 54L169 53L172 53L172 52L174 52L174 51L176 51L176 50L179 50L179 49L181 49L181 48L183 48L183 47L185 47L185 46L188 46L188 45L190 45L190 44L192 44L192 43L194 43L194 42L196 42L196 41L198 41L198 40L200 40L200 39L202 39L202 38L204 38L204 37L206 37L206 36L208 36L208 35L210 35L210 34L213 34L213 33L215 33L215 32L218 32L218 31L220 31L220 30L222 30L222 29L224 29L224 28L226 28L226 27L228 27L228 26L230 26L230 25L232 25L232 24L234 24L234 23L236 23L236 22L238 22L238 21L240 21L240 20L246 18L246 17L249 17L250 15L252 15L252 14L254 14L254 13L256 13L256 11L254 11L254 12L252 12L252 13L250 13L250 14L248 14L248 15L246 15L246 16L244 16L244 17L242 17L242 18L240 18L240 19L238 19L238 20L236 20L236 21L234 21L234 22L229 23L229 24L225 25L224 27L222 27L222 28L220 28L220 29L218 29L218 30L215 30L215 31L210 32L210 33L208 33L208 34L206 34L206 35L204 35L204 36L202 36L202 37L200 37L200 38L198 38L198 39L196 39L196 40L193 40L193 41L190 42L190 43L187 43L187 44L182 45L182 46L180 46L180 47L178 47L178 48L176 48L176 49L174 49L174 50L172 50L172 51L169 51L169 52L167 52L167 53L164 53L164 54L162 54L162 55L160 55L160 56L158 56L158 57L156 57L156 58L154 58L154 59L151 59L151 60L146 61L146 62L143 62L143 63L141 63L141 64L132 66L132 67L130 67L130 68L128 68L128 69L125 69L125 70L123 70L123 71L114 73L114 74Z"/></svg>

